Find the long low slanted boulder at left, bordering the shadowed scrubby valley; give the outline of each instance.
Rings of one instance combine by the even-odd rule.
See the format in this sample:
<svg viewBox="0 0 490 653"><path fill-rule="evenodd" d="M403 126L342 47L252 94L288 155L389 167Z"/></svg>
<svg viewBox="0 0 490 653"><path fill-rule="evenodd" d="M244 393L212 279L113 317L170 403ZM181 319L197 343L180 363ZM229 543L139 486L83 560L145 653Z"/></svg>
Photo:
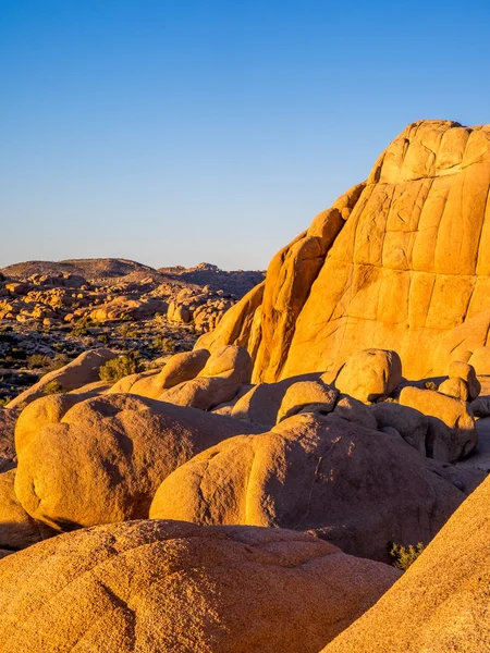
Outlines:
<svg viewBox="0 0 490 653"><path fill-rule="evenodd" d="M12 399L9 403L9 408L17 408L41 397L48 383L59 383L64 392L70 392L87 383L99 381L100 368L112 358L117 358L117 354L103 347L84 352L75 360L59 370L53 370L41 377L37 383Z"/></svg>

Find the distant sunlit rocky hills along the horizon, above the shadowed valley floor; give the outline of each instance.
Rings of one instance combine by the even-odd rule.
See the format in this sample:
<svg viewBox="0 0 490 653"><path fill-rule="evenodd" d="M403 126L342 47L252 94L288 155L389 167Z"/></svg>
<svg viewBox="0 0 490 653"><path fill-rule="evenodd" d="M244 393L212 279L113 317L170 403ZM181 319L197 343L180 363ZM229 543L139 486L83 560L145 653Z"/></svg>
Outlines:
<svg viewBox="0 0 490 653"><path fill-rule="evenodd" d="M155 270L124 259L29 261L0 271L0 320L142 319L167 315L172 305L173 321L188 323L199 313L204 332L262 279L259 271L225 272L209 263Z"/></svg>

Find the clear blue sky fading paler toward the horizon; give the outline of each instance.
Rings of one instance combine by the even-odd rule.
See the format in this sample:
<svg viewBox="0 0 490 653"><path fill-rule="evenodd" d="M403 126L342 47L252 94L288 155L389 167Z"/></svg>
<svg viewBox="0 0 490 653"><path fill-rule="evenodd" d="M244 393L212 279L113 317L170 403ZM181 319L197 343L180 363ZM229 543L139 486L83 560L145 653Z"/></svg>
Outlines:
<svg viewBox="0 0 490 653"><path fill-rule="evenodd" d="M407 123L490 123L489 34L489 0L0 0L0 267L265 268Z"/></svg>

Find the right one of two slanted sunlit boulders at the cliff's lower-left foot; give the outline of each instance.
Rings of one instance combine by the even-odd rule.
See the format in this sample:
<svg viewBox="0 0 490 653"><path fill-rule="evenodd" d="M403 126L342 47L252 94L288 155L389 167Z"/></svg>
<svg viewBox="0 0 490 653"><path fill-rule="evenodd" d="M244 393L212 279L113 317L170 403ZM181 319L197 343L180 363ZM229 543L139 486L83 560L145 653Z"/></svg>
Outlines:
<svg viewBox="0 0 490 653"><path fill-rule="evenodd" d="M241 385L249 383L252 367L246 349L222 347L211 354L195 379L163 391L159 398L177 406L212 410L233 399Z"/></svg>

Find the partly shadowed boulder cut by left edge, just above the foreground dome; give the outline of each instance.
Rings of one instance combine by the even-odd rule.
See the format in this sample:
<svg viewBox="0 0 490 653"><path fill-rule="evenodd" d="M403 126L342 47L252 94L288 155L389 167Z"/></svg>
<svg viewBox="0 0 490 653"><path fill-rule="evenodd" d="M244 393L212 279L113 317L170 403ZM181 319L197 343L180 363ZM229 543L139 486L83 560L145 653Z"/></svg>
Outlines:
<svg viewBox="0 0 490 653"><path fill-rule="evenodd" d="M27 515L14 491L15 469L0 473L0 549L19 551L56 534Z"/></svg>

